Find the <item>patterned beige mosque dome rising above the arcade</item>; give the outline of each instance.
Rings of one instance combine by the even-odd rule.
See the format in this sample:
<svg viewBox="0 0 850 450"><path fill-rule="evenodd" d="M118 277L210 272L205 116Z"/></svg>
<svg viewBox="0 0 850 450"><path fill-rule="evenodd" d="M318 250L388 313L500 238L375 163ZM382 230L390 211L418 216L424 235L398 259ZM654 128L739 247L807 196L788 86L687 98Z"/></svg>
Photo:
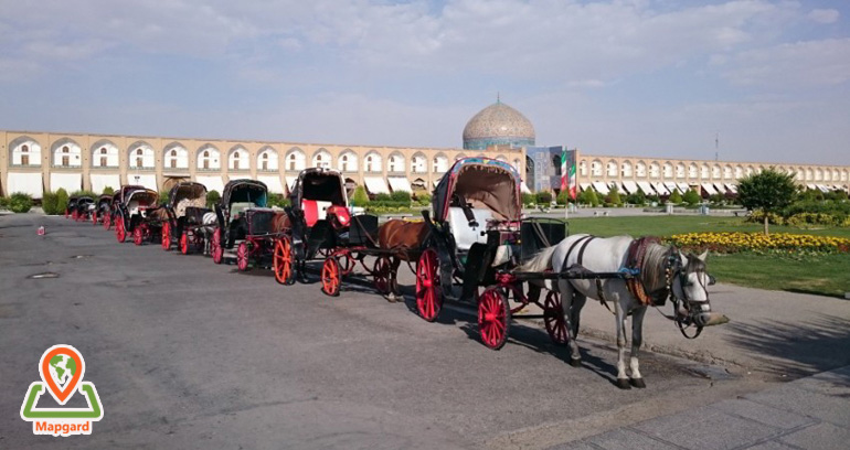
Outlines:
<svg viewBox="0 0 850 450"><path fill-rule="evenodd" d="M464 148L486 150L490 146L534 144L534 126L522 113L496 100L472 116L464 128Z"/></svg>

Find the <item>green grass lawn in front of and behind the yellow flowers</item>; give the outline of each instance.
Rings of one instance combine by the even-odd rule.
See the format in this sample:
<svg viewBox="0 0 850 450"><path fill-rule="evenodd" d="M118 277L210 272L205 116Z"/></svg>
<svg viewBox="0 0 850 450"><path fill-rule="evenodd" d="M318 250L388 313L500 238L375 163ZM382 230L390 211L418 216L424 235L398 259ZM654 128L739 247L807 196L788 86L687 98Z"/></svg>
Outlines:
<svg viewBox="0 0 850 450"><path fill-rule="evenodd" d="M737 217L631 216L570 219L570 234L597 236L670 236L700 232L762 232L759 224ZM771 226L771 233L812 234L850 238L848 228L799 229ZM807 256L803 259L755 254L711 255L709 270L720 282L843 298L850 292L850 255Z"/></svg>

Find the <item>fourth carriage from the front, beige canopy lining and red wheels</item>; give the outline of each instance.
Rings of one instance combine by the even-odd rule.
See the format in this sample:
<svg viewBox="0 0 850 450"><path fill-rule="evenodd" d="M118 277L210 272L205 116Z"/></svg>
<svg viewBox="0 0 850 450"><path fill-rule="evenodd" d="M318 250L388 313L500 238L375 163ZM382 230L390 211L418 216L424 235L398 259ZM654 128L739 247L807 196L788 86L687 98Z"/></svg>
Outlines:
<svg viewBox="0 0 850 450"><path fill-rule="evenodd" d="M208 237L214 229L215 217L212 210L206 207L206 188L192 181L174 184L168 194L164 206L168 215L162 223L162 249L170 250L177 244L180 253L188 255L194 247L205 249ZM204 223L204 216L208 217Z"/></svg>

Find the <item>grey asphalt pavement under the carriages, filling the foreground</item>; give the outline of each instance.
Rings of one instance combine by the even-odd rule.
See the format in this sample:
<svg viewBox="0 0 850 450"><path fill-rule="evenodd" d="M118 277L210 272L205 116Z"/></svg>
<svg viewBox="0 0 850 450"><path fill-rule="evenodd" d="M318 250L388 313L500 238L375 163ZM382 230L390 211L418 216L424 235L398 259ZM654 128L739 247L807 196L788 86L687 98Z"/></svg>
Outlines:
<svg viewBox="0 0 850 450"><path fill-rule="evenodd" d="M44 274L57 278L32 278ZM328 298L315 280L283 287L267 270L119 245L91 224L2 216L0 448L846 443L850 302L725 285L711 294L732 322L687 341L650 311L648 386L621 392L613 319L597 304L585 307L584 366L573 368L534 321L493 352L464 306L426 323L410 298L389 303L358 285ZM103 400L91 436L35 437L20 418L57 343L84 354Z"/></svg>

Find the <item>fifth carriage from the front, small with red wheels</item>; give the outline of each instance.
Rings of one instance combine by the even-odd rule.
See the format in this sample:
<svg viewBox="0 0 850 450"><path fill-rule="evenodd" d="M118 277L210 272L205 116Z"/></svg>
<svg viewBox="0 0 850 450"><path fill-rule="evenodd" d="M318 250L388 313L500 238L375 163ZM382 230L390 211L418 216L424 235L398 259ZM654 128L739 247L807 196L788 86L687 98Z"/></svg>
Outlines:
<svg viewBox="0 0 850 450"><path fill-rule="evenodd" d="M115 206L115 237L118 242L125 242L128 234L132 235L132 242L136 245L141 245L146 239L155 240L159 237L161 221L152 215L153 211L159 208L157 191L140 186L124 186L121 197L121 202Z"/></svg>

